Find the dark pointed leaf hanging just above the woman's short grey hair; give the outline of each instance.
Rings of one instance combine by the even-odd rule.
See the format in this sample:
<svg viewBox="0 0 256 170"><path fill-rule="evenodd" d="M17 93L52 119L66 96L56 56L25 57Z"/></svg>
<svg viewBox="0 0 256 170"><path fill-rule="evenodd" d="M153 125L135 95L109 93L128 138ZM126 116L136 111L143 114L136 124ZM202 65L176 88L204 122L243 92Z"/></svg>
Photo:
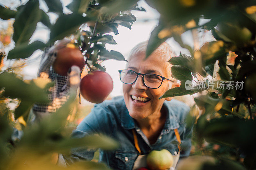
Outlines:
<svg viewBox="0 0 256 170"><path fill-rule="evenodd" d="M168 37L163 39L158 38L158 33L164 29L164 26L159 24L150 34L150 38L148 40L148 46L146 51L146 58L151 55Z"/></svg>

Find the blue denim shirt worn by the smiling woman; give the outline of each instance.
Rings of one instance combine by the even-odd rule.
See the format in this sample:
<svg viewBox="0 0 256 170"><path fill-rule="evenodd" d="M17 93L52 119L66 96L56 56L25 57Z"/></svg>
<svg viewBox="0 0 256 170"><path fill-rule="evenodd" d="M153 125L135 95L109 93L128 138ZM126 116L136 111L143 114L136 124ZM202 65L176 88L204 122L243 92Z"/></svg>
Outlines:
<svg viewBox="0 0 256 170"><path fill-rule="evenodd" d="M95 104L91 113L77 126L72 135L74 138L81 138L88 134L101 133L116 139L119 148L115 151L99 150L99 162L104 162L113 169L131 170L135 159L139 156L134 146L132 129L137 132L142 155L161 149L167 149L172 155L176 155L179 149L174 129L178 128L181 138L180 157L186 157L190 153L192 133L192 129L187 129L185 124L189 107L174 99L165 101L163 107L167 111L165 125L152 145L129 115L124 97L115 97L110 101ZM72 155L75 159L91 160L94 152L93 149L73 149Z"/></svg>

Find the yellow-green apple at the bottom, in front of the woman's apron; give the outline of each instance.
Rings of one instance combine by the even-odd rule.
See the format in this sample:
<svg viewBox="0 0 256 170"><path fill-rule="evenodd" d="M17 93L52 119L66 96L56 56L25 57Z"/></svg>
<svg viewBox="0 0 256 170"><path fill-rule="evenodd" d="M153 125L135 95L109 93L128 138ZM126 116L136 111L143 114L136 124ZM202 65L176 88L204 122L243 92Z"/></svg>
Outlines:
<svg viewBox="0 0 256 170"><path fill-rule="evenodd" d="M172 167L172 164L172 154L166 149L161 151L153 150L147 156L147 165L150 170L169 169Z"/></svg>

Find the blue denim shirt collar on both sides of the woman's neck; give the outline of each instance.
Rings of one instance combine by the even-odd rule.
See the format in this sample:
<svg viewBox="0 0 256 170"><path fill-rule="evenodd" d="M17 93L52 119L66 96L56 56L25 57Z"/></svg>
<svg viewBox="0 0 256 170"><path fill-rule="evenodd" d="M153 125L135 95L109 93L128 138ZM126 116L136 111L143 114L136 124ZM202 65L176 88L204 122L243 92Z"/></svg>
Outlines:
<svg viewBox="0 0 256 170"><path fill-rule="evenodd" d="M163 107L167 110L167 119L165 121L164 128L173 130L180 127L177 117L174 114L172 108L168 105L167 101L164 101ZM124 129L133 129L135 128L134 119L129 115L129 112L125 106L124 100L121 108L121 125Z"/></svg>

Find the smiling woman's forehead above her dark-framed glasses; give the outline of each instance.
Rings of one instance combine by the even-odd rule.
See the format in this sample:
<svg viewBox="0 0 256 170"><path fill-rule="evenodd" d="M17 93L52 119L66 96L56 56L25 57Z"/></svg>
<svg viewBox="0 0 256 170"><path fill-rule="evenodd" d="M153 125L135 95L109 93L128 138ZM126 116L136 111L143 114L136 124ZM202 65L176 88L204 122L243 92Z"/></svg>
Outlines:
<svg viewBox="0 0 256 170"><path fill-rule="evenodd" d="M167 75L170 71L170 63L168 57L165 57L159 53L151 54L145 59L145 53L138 53L130 58L127 64L127 68L133 68L134 71L150 72L155 71L155 74Z"/></svg>

